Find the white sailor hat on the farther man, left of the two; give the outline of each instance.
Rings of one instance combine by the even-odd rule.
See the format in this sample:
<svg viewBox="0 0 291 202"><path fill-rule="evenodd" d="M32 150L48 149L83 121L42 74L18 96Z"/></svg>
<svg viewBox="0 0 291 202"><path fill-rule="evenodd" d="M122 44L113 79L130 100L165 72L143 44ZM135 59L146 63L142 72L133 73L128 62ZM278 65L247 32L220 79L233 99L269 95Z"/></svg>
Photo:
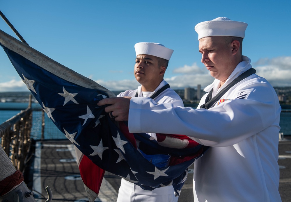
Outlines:
<svg viewBox="0 0 291 202"><path fill-rule="evenodd" d="M170 60L174 50L164 47L158 43L140 42L134 45L135 53L137 55L151 55L166 60Z"/></svg>

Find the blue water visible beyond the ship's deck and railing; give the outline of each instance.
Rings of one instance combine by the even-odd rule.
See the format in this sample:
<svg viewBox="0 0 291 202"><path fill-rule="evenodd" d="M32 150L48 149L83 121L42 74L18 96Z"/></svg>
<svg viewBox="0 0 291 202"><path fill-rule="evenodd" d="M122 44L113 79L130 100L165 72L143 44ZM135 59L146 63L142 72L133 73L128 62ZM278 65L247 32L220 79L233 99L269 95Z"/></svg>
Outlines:
<svg viewBox="0 0 291 202"><path fill-rule="evenodd" d="M196 108L196 104L191 107ZM190 106L185 104L185 106ZM28 103L0 103L0 124L10 119L21 110L25 110L28 107ZM41 106L38 103L32 103L33 111L33 126L31 130L31 137L39 140L41 138L42 129L42 111ZM15 110L17 109L17 110ZM280 133L284 135L291 135L291 109L282 109L280 114ZM51 119L45 114L45 139L64 139L65 135L54 125Z"/></svg>

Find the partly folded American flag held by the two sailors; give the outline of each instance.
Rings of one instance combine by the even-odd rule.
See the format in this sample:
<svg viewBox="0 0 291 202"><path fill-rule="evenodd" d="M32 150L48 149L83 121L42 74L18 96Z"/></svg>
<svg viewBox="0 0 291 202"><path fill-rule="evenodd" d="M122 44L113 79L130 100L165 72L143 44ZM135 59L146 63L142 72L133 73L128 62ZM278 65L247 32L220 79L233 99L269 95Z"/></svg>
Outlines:
<svg viewBox="0 0 291 202"><path fill-rule="evenodd" d="M208 147L187 136L157 134L155 140L129 133L127 122L115 123L104 106L97 106L115 96L112 92L1 30L0 45L48 117L74 144L90 201L98 196L105 170L144 190L173 186L180 195L187 168ZM161 146L165 139L167 145ZM171 146L171 140L184 146Z"/></svg>

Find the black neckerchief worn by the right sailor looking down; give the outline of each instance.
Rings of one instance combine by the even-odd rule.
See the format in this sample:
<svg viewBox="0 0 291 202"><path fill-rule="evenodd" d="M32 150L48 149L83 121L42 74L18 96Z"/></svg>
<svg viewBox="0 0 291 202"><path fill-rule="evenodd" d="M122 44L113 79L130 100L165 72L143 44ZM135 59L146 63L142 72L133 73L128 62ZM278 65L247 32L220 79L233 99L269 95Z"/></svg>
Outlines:
<svg viewBox="0 0 291 202"><path fill-rule="evenodd" d="M239 75L235 80L230 82L225 88L223 88L219 93L217 93L214 98L211 99L212 97L212 92L213 88L211 91L208 93L206 99L205 99L205 104L200 106L200 109L209 109L214 103L216 103L231 87L233 87L235 84L237 84L239 81L242 81L244 78L251 76L252 74L255 74L256 70L251 68Z"/></svg>

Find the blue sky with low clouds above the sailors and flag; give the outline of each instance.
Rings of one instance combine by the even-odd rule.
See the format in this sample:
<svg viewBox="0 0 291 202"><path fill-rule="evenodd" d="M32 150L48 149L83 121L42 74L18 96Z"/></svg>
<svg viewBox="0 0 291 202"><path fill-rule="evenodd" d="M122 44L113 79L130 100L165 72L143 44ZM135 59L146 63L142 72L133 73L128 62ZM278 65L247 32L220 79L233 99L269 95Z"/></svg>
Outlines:
<svg viewBox="0 0 291 202"><path fill-rule="evenodd" d="M290 1L249 0L11 0L0 5L31 47L112 91L139 85L133 75L138 42L174 50L164 77L173 89L212 83L200 62L194 27L217 17L248 23L243 55L273 86L291 86L290 8ZM0 29L16 37L3 19ZM28 91L2 50L0 68L0 92Z"/></svg>

